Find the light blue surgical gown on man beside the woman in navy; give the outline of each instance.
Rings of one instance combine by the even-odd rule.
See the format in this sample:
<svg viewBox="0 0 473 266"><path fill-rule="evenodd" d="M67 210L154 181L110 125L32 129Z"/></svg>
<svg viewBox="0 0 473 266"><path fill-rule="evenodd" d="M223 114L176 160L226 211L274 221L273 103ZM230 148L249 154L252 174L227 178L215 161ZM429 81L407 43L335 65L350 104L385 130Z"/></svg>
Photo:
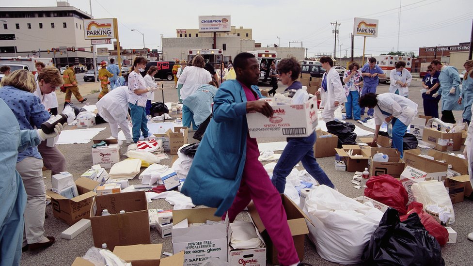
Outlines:
<svg viewBox="0 0 473 266"><path fill-rule="evenodd" d="M442 111L443 110L463 110L463 105L458 104L460 97L460 76L454 66L445 66L439 76L440 89L437 92L441 94ZM450 89L455 88L455 93L450 94Z"/></svg>

